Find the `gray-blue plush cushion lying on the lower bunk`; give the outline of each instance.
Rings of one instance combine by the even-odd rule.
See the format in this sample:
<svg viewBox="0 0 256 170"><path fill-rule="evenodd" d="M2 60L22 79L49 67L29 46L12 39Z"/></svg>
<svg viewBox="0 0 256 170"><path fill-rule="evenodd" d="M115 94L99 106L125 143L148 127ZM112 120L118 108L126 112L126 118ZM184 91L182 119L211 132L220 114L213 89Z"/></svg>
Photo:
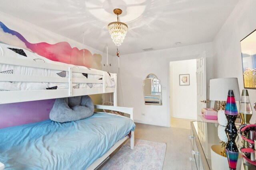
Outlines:
<svg viewBox="0 0 256 170"><path fill-rule="evenodd" d="M59 98L55 100L50 119L60 123L77 121L92 116L93 112L94 104L90 96Z"/></svg>

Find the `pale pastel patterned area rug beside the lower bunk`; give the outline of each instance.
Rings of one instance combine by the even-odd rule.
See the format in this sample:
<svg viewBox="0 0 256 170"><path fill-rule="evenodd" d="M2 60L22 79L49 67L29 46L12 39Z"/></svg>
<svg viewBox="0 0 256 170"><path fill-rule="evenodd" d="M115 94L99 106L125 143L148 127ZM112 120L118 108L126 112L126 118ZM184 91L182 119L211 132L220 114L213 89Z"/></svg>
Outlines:
<svg viewBox="0 0 256 170"><path fill-rule="evenodd" d="M165 143L141 139L135 139L132 150L128 140L102 170L162 170L165 151Z"/></svg>

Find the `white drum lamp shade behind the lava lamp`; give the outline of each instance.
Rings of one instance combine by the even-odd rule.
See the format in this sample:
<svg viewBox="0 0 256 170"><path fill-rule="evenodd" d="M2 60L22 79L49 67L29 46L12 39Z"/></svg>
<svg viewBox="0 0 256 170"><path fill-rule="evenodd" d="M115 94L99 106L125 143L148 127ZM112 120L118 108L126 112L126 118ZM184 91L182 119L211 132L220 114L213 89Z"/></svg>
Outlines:
<svg viewBox="0 0 256 170"><path fill-rule="evenodd" d="M241 100L237 78L215 78L210 80L210 100L226 101L228 90L233 90L236 101Z"/></svg>

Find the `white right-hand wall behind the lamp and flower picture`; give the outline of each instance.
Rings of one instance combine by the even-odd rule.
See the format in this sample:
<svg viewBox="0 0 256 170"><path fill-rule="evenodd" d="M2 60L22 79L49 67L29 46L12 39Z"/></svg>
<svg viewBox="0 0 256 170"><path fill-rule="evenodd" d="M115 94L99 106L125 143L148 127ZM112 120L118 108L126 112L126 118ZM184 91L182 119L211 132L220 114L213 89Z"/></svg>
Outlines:
<svg viewBox="0 0 256 170"><path fill-rule="evenodd" d="M214 78L237 77L240 94L244 88L240 41L256 29L255 7L255 0L240 0L213 41ZM256 90L248 90L248 93L254 106ZM255 123L255 120L253 109L250 122Z"/></svg>

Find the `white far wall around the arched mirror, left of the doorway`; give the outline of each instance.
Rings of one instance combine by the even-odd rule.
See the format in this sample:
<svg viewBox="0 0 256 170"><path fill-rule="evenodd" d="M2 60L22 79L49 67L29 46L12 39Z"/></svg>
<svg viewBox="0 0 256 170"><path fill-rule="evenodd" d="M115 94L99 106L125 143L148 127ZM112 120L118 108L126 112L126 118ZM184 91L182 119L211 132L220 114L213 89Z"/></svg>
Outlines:
<svg viewBox="0 0 256 170"><path fill-rule="evenodd" d="M195 59L202 53L202 51L206 51L207 57L212 57L212 43L148 51L130 55L122 55L122 51L120 51L118 106L134 107L134 120L136 122L170 126L170 61ZM117 57L112 62L113 66L117 66ZM112 67L112 69L114 68ZM118 72L117 70L114 71ZM143 80L150 73L153 73L158 77L162 86L167 86L167 90L162 90L162 106L144 105L142 85ZM120 78L122 93L120 90ZM142 113L145 115L142 115Z"/></svg>

